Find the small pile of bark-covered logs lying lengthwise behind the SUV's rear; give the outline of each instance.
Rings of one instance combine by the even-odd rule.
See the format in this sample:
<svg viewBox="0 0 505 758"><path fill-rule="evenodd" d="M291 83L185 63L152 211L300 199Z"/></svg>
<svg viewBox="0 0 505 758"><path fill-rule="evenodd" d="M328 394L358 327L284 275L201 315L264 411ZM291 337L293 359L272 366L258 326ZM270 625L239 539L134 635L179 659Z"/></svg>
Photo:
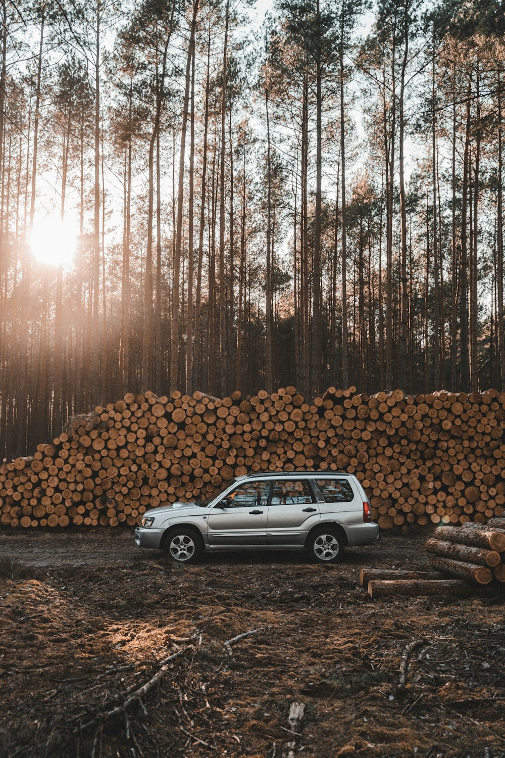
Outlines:
<svg viewBox="0 0 505 758"><path fill-rule="evenodd" d="M491 518L486 525L438 527L426 542L432 567L478 584L505 581L504 525L505 519Z"/></svg>

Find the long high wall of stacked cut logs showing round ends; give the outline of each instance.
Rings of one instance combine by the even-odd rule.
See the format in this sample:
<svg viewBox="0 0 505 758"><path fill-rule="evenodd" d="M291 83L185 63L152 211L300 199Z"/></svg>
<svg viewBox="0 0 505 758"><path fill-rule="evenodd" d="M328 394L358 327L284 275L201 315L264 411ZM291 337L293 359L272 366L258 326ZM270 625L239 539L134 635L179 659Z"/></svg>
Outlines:
<svg viewBox="0 0 505 758"><path fill-rule="evenodd" d="M505 393L295 387L245 399L127 393L0 466L0 523L133 525L249 471L348 471L383 529L484 524L505 505Z"/></svg>

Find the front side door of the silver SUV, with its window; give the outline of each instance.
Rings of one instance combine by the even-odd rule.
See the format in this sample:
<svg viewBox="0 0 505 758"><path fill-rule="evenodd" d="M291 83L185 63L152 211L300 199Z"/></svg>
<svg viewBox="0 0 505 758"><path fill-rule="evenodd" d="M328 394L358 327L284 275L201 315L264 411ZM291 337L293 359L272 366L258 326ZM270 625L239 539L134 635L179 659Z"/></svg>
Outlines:
<svg viewBox="0 0 505 758"><path fill-rule="evenodd" d="M246 481L210 509L209 545L266 545L270 481Z"/></svg>

